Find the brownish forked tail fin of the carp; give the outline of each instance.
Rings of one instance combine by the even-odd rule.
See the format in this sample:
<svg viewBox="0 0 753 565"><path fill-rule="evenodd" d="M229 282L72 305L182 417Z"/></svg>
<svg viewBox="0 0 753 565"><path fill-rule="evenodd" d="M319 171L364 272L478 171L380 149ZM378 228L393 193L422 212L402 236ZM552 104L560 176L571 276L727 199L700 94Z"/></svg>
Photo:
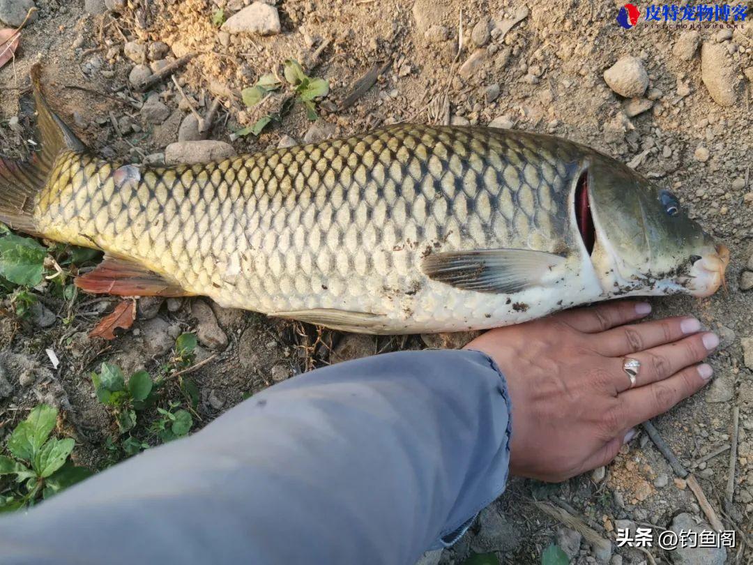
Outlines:
<svg viewBox="0 0 753 565"><path fill-rule="evenodd" d="M38 64L32 66L31 78L41 151L23 161L0 157L0 222L14 230L35 234L36 195L47 183L57 156L66 150L80 153L86 147L44 99Z"/></svg>

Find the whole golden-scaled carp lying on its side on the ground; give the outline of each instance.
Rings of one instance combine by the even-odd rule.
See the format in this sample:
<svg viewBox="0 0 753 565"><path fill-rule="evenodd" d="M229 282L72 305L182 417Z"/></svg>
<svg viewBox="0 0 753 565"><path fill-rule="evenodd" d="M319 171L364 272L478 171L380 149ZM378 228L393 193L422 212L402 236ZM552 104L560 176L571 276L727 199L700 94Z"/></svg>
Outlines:
<svg viewBox="0 0 753 565"><path fill-rule="evenodd" d="M677 197L553 136L399 124L206 164L108 162L42 96L0 221L100 249L75 283L206 295L344 331L460 331L635 295L712 295L729 252Z"/></svg>

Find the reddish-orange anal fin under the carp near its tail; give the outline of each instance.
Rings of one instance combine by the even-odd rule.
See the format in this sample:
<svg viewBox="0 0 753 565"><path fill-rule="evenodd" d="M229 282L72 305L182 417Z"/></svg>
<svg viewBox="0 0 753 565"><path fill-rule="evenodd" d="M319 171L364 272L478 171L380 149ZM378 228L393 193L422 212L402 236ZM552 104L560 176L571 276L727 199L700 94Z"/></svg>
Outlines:
<svg viewBox="0 0 753 565"><path fill-rule="evenodd" d="M74 280L79 289L120 296L188 296L178 282L127 259L105 255L94 270Z"/></svg>

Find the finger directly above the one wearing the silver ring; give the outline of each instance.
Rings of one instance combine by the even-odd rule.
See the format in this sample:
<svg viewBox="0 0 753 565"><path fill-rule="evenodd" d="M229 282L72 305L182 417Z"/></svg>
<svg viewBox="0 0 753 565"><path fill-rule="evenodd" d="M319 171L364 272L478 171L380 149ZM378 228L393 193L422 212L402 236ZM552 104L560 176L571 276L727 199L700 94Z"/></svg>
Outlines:
<svg viewBox="0 0 753 565"><path fill-rule="evenodd" d="M695 318L666 318L642 324L620 325L619 328L594 336L594 339L599 353L619 357L678 341L700 329L701 322Z"/></svg>

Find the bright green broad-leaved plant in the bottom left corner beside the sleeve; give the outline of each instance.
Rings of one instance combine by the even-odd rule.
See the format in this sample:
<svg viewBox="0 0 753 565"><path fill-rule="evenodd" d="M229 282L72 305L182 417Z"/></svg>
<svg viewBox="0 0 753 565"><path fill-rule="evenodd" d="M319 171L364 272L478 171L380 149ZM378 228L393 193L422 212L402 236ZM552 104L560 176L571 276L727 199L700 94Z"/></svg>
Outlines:
<svg viewBox="0 0 753 565"><path fill-rule="evenodd" d="M15 484L0 483L0 512L33 505L40 494L50 498L92 474L69 461L72 438L50 438L56 423L57 409L38 405L11 433L6 446L11 457L0 455L0 476L15 475Z"/></svg>

